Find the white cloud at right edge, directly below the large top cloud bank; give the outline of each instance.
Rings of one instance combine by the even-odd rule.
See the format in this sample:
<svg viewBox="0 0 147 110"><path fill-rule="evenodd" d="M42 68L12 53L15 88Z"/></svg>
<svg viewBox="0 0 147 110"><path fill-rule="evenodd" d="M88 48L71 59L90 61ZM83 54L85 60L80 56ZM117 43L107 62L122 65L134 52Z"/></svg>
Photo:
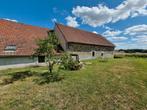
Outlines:
<svg viewBox="0 0 147 110"><path fill-rule="evenodd" d="M135 25L135 26L129 27L125 29L125 34L128 34L128 35L147 34L147 25L142 24L142 25Z"/></svg>

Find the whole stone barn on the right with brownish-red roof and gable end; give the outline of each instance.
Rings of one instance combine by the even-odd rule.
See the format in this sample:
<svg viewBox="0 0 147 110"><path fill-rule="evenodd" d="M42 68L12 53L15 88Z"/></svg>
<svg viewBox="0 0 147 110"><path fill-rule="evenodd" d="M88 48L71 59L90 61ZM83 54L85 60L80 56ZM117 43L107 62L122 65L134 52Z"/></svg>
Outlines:
<svg viewBox="0 0 147 110"><path fill-rule="evenodd" d="M64 51L78 55L80 60L113 57L115 45L105 37L56 23L54 29Z"/></svg>

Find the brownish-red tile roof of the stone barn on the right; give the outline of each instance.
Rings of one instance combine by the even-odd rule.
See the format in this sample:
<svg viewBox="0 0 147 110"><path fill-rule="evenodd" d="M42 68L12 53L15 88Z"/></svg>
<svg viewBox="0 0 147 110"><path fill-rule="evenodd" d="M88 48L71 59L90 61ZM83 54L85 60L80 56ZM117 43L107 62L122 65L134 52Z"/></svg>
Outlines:
<svg viewBox="0 0 147 110"><path fill-rule="evenodd" d="M64 35L66 42L115 47L114 44L99 34L64 26L58 23L56 23L56 26Z"/></svg>

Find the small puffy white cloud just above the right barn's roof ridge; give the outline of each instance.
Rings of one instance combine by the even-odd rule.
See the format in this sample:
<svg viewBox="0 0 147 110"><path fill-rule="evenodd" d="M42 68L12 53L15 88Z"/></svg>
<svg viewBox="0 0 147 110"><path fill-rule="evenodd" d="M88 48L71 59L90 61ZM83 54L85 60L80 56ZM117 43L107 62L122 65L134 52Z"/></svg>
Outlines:
<svg viewBox="0 0 147 110"><path fill-rule="evenodd" d="M72 27L78 27L79 26L78 22L76 21L76 17L68 16L65 19L67 20L68 26L72 26Z"/></svg>

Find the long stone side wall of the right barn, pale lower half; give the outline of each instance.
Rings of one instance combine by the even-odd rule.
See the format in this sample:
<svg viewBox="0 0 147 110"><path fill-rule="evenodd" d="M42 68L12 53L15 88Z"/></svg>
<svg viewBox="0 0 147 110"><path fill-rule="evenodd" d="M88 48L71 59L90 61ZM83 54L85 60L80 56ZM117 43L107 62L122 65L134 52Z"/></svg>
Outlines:
<svg viewBox="0 0 147 110"><path fill-rule="evenodd" d="M79 55L80 60L94 59L97 57L113 58L114 47L85 45L85 44L68 44L68 52Z"/></svg>

